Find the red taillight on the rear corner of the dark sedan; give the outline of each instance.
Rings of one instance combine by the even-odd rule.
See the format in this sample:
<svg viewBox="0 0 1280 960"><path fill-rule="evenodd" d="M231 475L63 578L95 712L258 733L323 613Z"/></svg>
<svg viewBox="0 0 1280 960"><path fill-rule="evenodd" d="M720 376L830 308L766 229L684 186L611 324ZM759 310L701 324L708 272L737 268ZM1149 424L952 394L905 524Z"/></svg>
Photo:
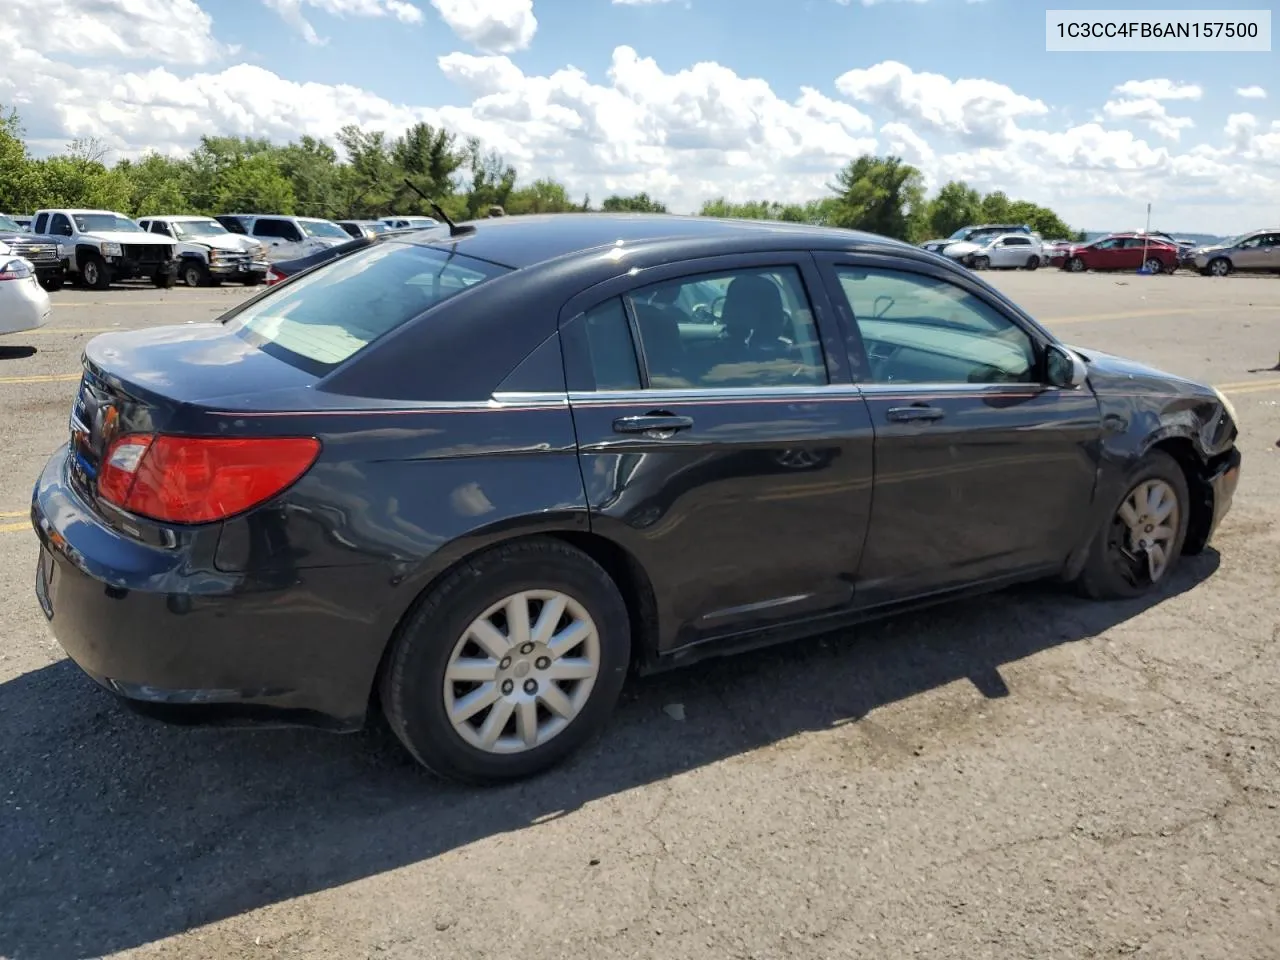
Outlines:
<svg viewBox="0 0 1280 960"><path fill-rule="evenodd" d="M99 495L166 524L207 524L275 497L320 454L312 436L129 434L106 452Z"/></svg>

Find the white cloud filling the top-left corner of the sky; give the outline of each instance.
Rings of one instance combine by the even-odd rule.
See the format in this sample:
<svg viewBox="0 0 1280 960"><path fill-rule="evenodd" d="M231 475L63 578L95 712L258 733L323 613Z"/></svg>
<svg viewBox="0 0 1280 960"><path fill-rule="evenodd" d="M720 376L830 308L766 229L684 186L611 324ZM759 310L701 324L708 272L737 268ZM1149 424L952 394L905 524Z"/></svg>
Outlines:
<svg viewBox="0 0 1280 960"><path fill-rule="evenodd" d="M6 0L0 64L27 49L197 67L230 52L196 0Z"/></svg>

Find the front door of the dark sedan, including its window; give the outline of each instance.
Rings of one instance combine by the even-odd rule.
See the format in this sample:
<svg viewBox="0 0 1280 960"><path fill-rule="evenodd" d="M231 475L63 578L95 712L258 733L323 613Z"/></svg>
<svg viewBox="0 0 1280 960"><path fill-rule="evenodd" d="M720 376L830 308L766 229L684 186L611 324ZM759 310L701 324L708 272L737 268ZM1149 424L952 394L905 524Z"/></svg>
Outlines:
<svg viewBox="0 0 1280 960"><path fill-rule="evenodd" d="M832 255L876 430L861 607L1061 564L1093 497L1088 387L1043 381L1046 337L977 283Z"/></svg>

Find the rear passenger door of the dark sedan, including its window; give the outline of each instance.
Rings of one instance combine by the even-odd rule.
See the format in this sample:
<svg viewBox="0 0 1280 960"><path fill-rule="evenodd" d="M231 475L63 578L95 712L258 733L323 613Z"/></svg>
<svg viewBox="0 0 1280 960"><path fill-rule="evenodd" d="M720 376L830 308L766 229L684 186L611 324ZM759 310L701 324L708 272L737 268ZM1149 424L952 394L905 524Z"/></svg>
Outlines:
<svg viewBox="0 0 1280 960"><path fill-rule="evenodd" d="M850 609L873 434L812 257L643 278L562 330L593 529L653 581L662 648Z"/></svg>

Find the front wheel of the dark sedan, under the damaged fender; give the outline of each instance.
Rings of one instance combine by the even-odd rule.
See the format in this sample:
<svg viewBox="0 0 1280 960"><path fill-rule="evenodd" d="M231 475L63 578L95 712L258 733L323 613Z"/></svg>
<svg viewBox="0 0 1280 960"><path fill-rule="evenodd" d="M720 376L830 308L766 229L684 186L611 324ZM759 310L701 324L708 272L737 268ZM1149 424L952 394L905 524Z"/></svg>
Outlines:
<svg viewBox="0 0 1280 960"><path fill-rule="evenodd" d="M1148 453L1089 545L1082 591L1094 599L1139 596L1169 580L1187 539L1190 495L1172 457Z"/></svg>

